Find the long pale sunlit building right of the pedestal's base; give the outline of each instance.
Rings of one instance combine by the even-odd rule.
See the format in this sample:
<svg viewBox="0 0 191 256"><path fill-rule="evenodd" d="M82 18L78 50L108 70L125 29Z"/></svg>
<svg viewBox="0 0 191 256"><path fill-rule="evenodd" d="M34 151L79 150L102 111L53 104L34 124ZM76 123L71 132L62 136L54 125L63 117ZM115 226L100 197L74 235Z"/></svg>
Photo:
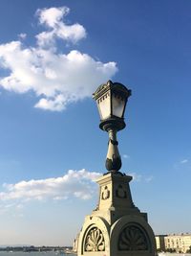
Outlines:
<svg viewBox="0 0 191 256"><path fill-rule="evenodd" d="M191 234L172 234L156 236L157 249L186 253L191 246Z"/></svg>

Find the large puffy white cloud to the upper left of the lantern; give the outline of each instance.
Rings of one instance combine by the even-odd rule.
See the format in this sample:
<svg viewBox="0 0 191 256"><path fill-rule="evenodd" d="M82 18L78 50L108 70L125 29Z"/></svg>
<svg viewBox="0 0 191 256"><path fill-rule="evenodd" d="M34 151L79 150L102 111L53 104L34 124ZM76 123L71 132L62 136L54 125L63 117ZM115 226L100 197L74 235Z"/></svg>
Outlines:
<svg viewBox="0 0 191 256"><path fill-rule="evenodd" d="M38 97L35 107L61 111L92 96L97 85L116 74L116 62L103 63L77 50L58 53L57 38L76 43L86 36L83 26L63 22L69 11L66 7L37 11L48 30L36 35L36 47L19 40L0 45L0 68L10 71L0 78L0 86L15 93L33 91Z"/></svg>

